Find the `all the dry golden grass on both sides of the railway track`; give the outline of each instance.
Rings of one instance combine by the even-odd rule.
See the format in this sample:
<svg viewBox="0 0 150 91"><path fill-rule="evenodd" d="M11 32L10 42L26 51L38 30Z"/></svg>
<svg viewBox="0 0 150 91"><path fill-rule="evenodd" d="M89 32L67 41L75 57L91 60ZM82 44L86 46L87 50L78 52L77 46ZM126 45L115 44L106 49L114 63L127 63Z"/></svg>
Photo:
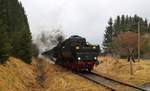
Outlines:
<svg viewBox="0 0 150 91"><path fill-rule="evenodd" d="M94 72L141 86L150 82L150 61L133 64L130 75L129 63L124 59L99 57L102 63ZM31 65L11 57L0 65L0 91L109 91L108 89L72 74L70 71L47 61L33 59Z"/></svg>

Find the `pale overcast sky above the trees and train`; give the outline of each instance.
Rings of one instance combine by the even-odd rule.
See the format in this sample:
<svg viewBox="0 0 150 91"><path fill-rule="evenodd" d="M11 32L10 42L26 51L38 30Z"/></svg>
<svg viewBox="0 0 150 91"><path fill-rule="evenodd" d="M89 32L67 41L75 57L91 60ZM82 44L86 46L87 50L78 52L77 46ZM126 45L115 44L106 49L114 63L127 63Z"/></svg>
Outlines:
<svg viewBox="0 0 150 91"><path fill-rule="evenodd" d="M150 0L21 0L32 34L60 27L67 36L78 34L101 43L110 17L137 14L150 19Z"/></svg>

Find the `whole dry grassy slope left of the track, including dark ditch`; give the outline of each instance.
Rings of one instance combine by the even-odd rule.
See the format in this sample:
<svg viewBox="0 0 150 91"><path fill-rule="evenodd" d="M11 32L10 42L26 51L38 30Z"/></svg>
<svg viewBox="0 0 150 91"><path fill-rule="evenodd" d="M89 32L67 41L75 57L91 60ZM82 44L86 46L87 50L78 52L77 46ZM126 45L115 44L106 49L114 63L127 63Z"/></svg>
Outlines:
<svg viewBox="0 0 150 91"><path fill-rule="evenodd" d="M95 83L43 60L31 65L9 58L0 65L0 91L108 91Z"/></svg>

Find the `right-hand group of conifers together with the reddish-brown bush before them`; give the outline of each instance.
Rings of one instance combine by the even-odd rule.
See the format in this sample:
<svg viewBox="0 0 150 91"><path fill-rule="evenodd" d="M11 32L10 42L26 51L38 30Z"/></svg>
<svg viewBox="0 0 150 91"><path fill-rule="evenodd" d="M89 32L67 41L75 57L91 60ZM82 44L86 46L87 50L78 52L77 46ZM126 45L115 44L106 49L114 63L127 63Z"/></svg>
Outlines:
<svg viewBox="0 0 150 91"><path fill-rule="evenodd" d="M121 15L114 20L109 19L103 40L104 53L127 56L128 49L133 48L135 56L137 56L138 23L141 36L141 55L150 55L150 23L138 15Z"/></svg>

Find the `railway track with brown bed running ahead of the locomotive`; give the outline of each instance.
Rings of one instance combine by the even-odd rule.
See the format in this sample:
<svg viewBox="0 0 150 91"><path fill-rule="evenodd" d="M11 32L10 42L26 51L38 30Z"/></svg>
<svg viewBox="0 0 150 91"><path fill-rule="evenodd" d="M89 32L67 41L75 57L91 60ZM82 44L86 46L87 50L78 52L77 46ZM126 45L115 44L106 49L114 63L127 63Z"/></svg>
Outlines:
<svg viewBox="0 0 150 91"><path fill-rule="evenodd" d="M121 81L117 81L96 73L89 73L89 72L82 72L82 73L77 73L78 75L93 81L97 84L100 84L108 89L110 89L111 91L147 91L143 88L137 87L137 86L133 86Z"/></svg>

